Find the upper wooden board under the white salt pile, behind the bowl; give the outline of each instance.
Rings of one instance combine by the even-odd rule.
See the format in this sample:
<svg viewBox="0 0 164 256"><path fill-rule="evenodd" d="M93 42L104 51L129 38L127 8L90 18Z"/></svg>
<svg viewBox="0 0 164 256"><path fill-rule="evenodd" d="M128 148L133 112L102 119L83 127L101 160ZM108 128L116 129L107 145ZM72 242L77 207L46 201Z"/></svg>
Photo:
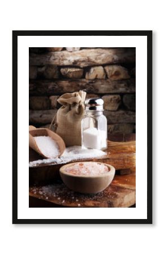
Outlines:
<svg viewBox="0 0 164 256"><path fill-rule="evenodd" d="M29 149L29 162L42 159L35 151ZM108 141L107 154L100 158L80 159L80 161L94 161L111 164L116 170L134 168L136 164L136 142L110 142ZM77 160L70 161L77 162ZM70 163L68 162L68 163ZM59 178L60 163L41 163L29 168L29 184L49 184Z"/></svg>

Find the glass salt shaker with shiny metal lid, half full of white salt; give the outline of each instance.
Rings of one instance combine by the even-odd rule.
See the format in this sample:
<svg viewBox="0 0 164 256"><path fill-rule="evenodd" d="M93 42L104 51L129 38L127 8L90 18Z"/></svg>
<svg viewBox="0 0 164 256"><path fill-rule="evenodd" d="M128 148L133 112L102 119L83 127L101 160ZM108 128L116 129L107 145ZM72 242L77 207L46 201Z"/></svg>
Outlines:
<svg viewBox="0 0 164 256"><path fill-rule="evenodd" d="M85 115L81 120L81 145L83 148L106 150L107 119L103 115L103 100L85 100Z"/></svg>

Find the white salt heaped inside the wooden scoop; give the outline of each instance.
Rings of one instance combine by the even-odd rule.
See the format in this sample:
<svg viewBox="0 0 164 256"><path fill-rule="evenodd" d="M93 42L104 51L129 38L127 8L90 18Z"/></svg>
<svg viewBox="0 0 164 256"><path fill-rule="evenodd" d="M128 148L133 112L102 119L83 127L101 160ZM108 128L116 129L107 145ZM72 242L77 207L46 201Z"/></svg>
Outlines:
<svg viewBox="0 0 164 256"><path fill-rule="evenodd" d="M33 138L42 154L47 158L56 158L59 155L59 146L51 137L38 136Z"/></svg>

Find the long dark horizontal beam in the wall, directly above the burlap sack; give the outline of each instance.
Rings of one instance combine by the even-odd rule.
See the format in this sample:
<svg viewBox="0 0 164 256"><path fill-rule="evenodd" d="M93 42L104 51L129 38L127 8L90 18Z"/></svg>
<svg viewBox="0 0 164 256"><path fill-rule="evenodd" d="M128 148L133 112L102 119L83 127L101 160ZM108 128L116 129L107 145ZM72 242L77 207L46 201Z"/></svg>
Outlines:
<svg viewBox="0 0 164 256"><path fill-rule="evenodd" d="M135 93L135 79L111 81L110 79L74 79L74 80L31 80L30 96L44 96L72 93L87 89L87 93Z"/></svg>

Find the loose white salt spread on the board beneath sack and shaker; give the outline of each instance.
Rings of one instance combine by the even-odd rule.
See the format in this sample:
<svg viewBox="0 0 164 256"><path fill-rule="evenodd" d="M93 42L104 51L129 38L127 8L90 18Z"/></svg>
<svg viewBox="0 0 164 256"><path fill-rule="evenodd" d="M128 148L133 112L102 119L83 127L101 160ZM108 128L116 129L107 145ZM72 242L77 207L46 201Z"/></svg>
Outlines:
<svg viewBox="0 0 164 256"><path fill-rule="evenodd" d="M99 158L106 155L106 152L97 149L81 148L81 146L67 147L63 155L59 158L41 159L29 162L29 167L35 167L38 164L63 164L72 160Z"/></svg>

